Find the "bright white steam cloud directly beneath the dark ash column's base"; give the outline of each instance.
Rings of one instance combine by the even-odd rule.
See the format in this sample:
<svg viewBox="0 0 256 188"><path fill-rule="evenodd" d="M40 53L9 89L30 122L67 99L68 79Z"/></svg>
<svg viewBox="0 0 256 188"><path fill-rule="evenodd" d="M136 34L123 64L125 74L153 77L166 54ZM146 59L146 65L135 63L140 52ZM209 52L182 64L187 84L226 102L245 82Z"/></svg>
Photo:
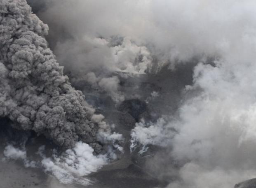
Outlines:
<svg viewBox="0 0 256 188"><path fill-rule="evenodd" d="M42 155L42 167L46 172L52 173L61 183L78 183L88 185L92 182L83 176L96 172L103 165L106 165L106 155L93 155L94 149L88 144L77 142L73 149L68 149L61 156L53 155L46 158Z"/></svg>

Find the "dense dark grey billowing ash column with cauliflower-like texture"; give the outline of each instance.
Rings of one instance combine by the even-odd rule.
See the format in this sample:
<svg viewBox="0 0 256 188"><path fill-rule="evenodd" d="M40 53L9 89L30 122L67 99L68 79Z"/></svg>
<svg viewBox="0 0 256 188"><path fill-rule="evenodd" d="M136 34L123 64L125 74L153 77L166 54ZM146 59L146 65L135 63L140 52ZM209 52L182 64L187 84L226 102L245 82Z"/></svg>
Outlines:
<svg viewBox="0 0 256 188"><path fill-rule="evenodd" d="M47 33L26 0L0 1L0 117L60 146L93 143L97 126L47 47Z"/></svg>

